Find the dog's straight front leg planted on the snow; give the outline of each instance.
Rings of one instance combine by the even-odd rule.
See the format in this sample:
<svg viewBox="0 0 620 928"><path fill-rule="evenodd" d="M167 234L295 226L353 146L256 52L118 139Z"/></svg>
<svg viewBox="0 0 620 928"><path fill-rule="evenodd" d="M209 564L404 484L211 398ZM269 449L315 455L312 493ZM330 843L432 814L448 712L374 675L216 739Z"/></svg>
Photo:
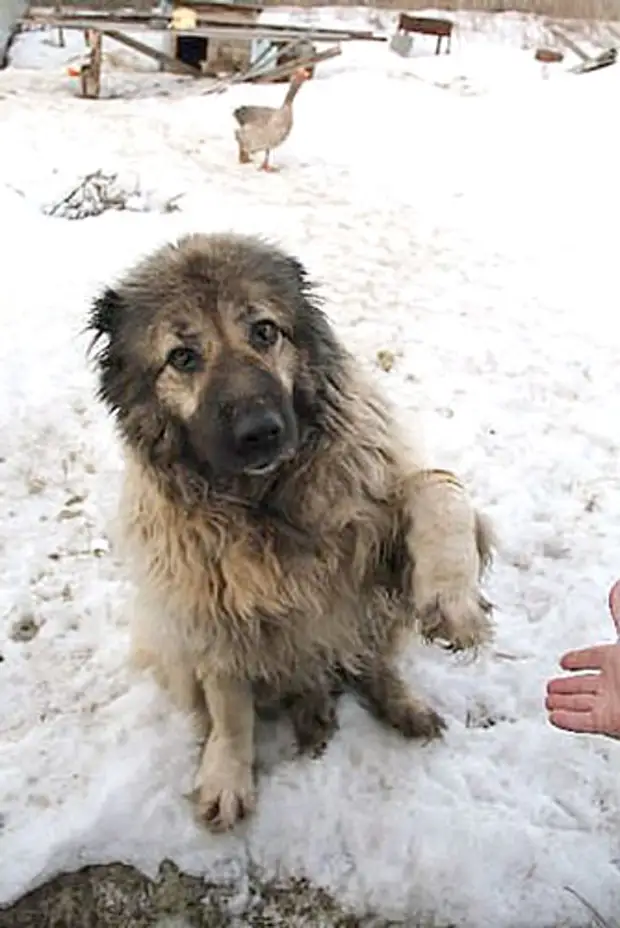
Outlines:
<svg viewBox="0 0 620 928"><path fill-rule="evenodd" d="M254 700L249 682L202 679L211 732L196 777L198 808L213 831L226 831L254 808Z"/></svg>

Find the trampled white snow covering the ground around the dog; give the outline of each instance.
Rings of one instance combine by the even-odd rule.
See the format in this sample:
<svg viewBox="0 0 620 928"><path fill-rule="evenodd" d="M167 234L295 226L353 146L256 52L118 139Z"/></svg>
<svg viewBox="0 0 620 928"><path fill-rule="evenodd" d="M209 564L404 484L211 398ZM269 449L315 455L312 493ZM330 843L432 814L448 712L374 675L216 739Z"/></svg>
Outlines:
<svg viewBox="0 0 620 928"><path fill-rule="evenodd" d="M250 864L306 876L410 924L583 928L567 887L617 915L620 745L553 730L543 691L564 650L613 637L620 71L576 77L567 61L544 80L524 47L535 20L463 22L441 59L346 46L300 93L273 176L237 164L230 112L281 85L205 96L108 62L107 98L84 101L65 76L76 46L38 32L0 73L0 904L86 863L154 874L169 858L240 893ZM181 210L45 215L94 170L183 194ZM184 798L188 721L127 666L120 454L83 331L139 255L216 229L302 257L405 427L501 537L494 649L403 655L445 742L405 744L349 700L320 761L291 760L266 728L258 811L223 837Z"/></svg>

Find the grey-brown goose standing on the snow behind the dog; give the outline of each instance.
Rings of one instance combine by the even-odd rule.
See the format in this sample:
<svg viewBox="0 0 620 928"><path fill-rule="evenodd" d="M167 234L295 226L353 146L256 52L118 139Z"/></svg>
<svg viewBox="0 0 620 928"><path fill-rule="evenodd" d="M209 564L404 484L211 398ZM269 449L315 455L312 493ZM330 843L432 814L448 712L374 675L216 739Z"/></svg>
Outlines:
<svg viewBox="0 0 620 928"><path fill-rule="evenodd" d="M269 154L289 137L293 128L293 100L307 78L307 71L300 69L295 72L280 107L238 106L233 111L239 123L239 128L235 130L239 161L245 164L251 161L251 155L263 151L265 157L261 169L275 170L269 165Z"/></svg>

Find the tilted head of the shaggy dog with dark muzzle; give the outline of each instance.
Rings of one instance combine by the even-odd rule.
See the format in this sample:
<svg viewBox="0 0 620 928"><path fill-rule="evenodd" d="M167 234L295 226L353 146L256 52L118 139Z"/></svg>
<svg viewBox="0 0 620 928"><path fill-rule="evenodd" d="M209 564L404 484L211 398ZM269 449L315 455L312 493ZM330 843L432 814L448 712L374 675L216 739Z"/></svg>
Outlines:
<svg viewBox="0 0 620 928"><path fill-rule="evenodd" d="M99 395L154 465L273 474L321 428L341 349L303 266L264 242L191 235L95 301Z"/></svg>

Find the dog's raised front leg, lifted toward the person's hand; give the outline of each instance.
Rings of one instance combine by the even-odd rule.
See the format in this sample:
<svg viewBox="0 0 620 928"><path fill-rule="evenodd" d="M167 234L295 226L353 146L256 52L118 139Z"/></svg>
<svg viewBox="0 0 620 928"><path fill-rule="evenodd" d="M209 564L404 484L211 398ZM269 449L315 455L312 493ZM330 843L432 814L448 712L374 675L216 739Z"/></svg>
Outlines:
<svg viewBox="0 0 620 928"><path fill-rule="evenodd" d="M490 524L448 471L419 471L408 491L412 593L422 635L454 650L486 644L493 626L480 580L491 558Z"/></svg>

